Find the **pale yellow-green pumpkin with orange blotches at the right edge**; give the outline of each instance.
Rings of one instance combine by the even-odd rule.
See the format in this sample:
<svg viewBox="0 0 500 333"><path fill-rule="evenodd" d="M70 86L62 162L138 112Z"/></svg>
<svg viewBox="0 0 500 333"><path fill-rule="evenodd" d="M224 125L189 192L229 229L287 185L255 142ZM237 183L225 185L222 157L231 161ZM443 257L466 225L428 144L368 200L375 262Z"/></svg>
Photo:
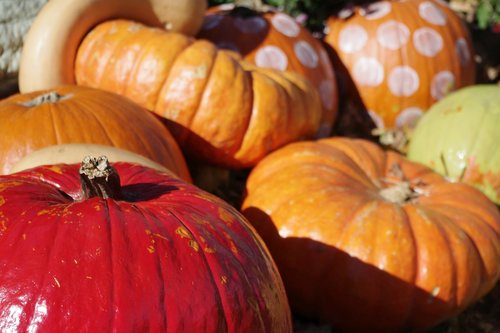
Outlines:
<svg viewBox="0 0 500 333"><path fill-rule="evenodd" d="M408 158L482 190L500 204L500 86L459 89L417 123Z"/></svg>

